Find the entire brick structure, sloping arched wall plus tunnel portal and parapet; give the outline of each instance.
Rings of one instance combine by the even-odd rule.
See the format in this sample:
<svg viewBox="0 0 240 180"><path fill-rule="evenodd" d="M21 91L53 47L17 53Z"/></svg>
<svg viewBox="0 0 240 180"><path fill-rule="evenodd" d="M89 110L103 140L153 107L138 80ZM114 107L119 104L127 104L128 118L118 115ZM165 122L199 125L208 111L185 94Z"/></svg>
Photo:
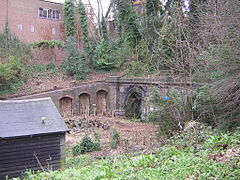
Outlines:
<svg viewBox="0 0 240 180"><path fill-rule="evenodd" d="M112 76L103 82L86 83L74 88L49 91L14 99L51 97L63 116L97 113L125 115L128 98L132 93L138 93L142 98L140 107L141 117L144 117L148 112L145 100L149 96L151 87L158 88L159 92L164 94L170 88L186 91L192 90L196 86L189 79L134 79Z"/></svg>

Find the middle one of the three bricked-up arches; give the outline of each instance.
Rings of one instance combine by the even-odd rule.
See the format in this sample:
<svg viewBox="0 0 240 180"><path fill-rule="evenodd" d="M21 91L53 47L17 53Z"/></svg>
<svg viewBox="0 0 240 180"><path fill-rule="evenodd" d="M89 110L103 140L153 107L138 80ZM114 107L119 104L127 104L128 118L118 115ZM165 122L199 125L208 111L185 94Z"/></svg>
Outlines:
<svg viewBox="0 0 240 180"><path fill-rule="evenodd" d="M79 112L80 115L90 115L90 95L87 93L79 95Z"/></svg>

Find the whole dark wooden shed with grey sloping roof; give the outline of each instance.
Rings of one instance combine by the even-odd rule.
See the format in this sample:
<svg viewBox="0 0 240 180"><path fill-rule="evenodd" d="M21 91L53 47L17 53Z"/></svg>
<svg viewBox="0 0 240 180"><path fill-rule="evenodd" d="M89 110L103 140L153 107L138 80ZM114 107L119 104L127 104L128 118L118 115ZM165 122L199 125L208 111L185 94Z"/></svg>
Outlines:
<svg viewBox="0 0 240 180"><path fill-rule="evenodd" d="M0 180L59 169L67 131L51 98L0 101Z"/></svg>

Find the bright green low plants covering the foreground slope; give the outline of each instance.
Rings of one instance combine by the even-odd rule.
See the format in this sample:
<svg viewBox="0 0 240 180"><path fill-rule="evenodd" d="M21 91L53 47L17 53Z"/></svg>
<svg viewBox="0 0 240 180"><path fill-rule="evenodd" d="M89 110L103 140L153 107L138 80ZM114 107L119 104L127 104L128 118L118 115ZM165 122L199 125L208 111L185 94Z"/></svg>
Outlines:
<svg viewBox="0 0 240 180"><path fill-rule="evenodd" d="M196 137L199 137L200 140ZM175 145L175 142L178 143ZM210 129L195 134L193 131L182 132L170 139L167 145L161 147L156 154L123 155L104 160L96 160L91 156L81 155L68 158L65 170L44 173L28 171L25 179L237 180L240 177L239 158L232 157L230 161L221 162L210 158L212 154L227 151L227 149L218 146L222 143L227 143L228 148L239 147L240 134L218 134L213 133Z"/></svg>

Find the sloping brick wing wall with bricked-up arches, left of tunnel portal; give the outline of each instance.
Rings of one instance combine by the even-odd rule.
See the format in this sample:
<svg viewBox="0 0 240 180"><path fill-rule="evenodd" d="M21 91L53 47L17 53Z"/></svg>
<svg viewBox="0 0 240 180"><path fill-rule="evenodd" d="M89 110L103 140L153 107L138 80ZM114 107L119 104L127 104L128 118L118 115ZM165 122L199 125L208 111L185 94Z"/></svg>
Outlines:
<svg viewBox="0 0 240 180"><path fill-rule="evenodd" d="M53 102L55 103L58 110L61 112L63 116L70 115L87 115L93 114L94 108L97 108L97 94L98 92L109 92L108 83L105 82L95 82L95 83L85 83L80 86L68 89L61 89L55 91L49 91L29 96L17 97L14 99L35 99L41 97L51 97ZM89 112L84 112L81 107L80 99L82 99L82 95L88 95L89 102L83 102L82 104L89 104ZM109 97L106 97L106 111L110 108ZM84 98L86 100L86 98ZM95 109L97 110L97 109Z"/></svg>

